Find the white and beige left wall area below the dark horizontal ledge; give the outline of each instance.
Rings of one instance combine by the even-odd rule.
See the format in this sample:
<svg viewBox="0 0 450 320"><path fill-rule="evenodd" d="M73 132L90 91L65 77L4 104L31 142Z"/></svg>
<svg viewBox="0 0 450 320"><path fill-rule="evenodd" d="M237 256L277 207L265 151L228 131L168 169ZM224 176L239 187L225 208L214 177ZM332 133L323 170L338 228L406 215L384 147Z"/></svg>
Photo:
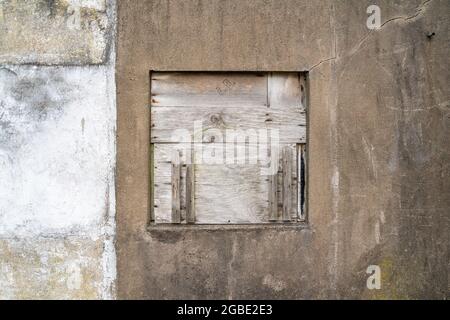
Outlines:
<svg viewBox="0 0 450 320"><path fill-rule="evenodd" d="M109 66L0 67L1 298L112 297L114 92Z"/></svg>

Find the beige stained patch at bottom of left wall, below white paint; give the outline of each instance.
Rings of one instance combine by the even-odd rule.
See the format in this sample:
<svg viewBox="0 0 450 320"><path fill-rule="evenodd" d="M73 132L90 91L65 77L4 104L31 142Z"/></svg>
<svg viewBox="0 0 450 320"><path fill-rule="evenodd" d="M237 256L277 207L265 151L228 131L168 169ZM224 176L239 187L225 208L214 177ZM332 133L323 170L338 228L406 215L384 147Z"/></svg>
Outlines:
<svg viewBox="0 0 450 320"><path fill-rule="evenodd" d="M103 290L103 239L0 240L2 299L96 299Z"/></svg>

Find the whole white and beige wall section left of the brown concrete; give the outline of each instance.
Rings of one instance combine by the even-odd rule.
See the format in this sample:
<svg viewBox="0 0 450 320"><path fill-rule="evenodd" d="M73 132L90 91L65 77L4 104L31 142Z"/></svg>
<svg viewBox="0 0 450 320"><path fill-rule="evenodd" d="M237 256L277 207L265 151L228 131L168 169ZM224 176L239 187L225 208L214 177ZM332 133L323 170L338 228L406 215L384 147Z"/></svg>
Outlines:
<svg viewBox="0 0 450 320"><path fill-rule="evenodd" d="M113 1L0 1L0 298L115 296Z"/></svg>

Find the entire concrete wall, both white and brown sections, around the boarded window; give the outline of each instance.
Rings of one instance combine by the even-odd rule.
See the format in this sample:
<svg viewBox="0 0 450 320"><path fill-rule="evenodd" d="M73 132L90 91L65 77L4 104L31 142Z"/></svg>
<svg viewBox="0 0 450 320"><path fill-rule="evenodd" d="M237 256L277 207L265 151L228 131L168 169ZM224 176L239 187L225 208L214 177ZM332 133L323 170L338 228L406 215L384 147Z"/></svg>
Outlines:
<svg viewBox="0 0 450 320"><path fill-rule="evenodd" d="M450 3L374 2L0 0L0 298L448 298ZM308 72L308 226L148 228L150 70Z"/></svg>

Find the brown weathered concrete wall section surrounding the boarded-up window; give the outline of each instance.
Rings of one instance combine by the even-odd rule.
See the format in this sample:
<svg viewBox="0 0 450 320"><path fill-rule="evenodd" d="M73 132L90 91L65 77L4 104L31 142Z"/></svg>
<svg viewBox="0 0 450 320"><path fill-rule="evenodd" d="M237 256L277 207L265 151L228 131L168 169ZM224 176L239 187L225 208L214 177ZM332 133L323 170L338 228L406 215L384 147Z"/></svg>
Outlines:
<svg viewBox="0 0 450 320"><path fill-rule="evenodd" d="M450 3L371 4L119 2L120 298L448 297ZM149 70L309 71L309 227L147 230Z"/></svg>

